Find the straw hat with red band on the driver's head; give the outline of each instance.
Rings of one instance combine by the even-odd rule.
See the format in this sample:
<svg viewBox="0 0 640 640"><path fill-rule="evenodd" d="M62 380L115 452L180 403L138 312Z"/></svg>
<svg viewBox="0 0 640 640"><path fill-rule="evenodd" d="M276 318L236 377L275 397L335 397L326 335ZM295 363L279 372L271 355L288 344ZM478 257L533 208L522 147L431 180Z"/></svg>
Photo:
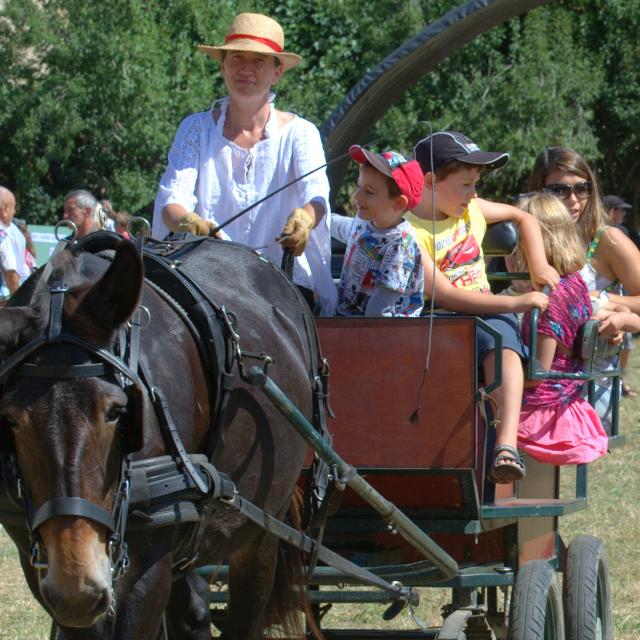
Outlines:
<svg viewBox="0 0 640 640"><path fill-rule="evenodd" d="M252 51L275 56L285 69L291 69L302 58L284 50L284 31L272 18L260 13L240 13L234 19L229 33L220 47L198 45L200 51L220 60L222 51Z"/></svg>

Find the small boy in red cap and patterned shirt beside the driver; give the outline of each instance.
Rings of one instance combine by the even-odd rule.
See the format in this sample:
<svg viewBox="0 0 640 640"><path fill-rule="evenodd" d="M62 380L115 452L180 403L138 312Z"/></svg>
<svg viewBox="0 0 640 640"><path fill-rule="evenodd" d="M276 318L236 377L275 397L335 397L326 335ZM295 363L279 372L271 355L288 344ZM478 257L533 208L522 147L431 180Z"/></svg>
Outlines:
<svg viewBox="0 0 640 640"><path fill-rule="evenodd" d="M338 315L419 316L423 305L420 250L403 214L420 202L422 171L395 151L354 145L360 164L355 218L333 216L331 235L345 242Z"/></svg>

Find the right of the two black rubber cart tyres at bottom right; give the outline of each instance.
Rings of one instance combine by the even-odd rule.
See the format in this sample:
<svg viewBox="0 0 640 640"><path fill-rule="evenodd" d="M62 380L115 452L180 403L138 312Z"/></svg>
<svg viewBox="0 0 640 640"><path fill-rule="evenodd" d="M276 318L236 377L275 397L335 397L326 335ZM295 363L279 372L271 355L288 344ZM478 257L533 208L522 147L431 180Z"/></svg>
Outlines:
<svg viewBox="0 0 640 640"><path fill-rule="evenodd" d="M578 536L567 549L564 572L567 640L612 640L611 583L600 538Z"/></svg>

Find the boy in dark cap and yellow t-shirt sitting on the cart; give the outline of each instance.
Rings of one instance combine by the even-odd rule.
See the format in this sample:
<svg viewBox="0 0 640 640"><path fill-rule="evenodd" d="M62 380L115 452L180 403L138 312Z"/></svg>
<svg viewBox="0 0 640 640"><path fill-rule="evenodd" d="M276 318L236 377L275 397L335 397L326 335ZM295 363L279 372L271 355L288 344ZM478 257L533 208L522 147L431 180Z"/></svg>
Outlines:
<svg viewBox="0 0 640 640"><path fill-rule="evenodd" d="M522 360L528 355L515 313L531 308L543 311L548 299L539 291L515 297L492 295L482 254L487 223L511 220L518 226L536 289L555 287L560 277L547 263L540 226L533 216L478 198L476 184L482 171L502 167L508 154L482 151L461 133L439 131L418 142L414 156L424 174L424 193L407 219L426 254L425 291L439 307L479 315L502 336L502 385L492 394L501 415L496 419L489 478L513 482L525 475L516 444L524 386ZM481 328L476 331L476 351L485 382L490 383L495 375L495 343Z"/></svg>

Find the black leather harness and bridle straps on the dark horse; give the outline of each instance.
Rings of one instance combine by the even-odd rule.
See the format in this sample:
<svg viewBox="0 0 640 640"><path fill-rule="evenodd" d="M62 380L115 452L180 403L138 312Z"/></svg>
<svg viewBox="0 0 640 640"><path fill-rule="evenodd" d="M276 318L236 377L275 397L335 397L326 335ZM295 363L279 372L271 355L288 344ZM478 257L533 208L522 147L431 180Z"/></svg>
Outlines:
<svg viewBox="0 0 640 640"><path fill-rule="evenodd" d="M99 232L75 243L72 250L74 253L100 253L112 250L118 241L120 237L116 234ZM305 514L306 524L314 530L316 539L281 522L239 496L233 481L211 464L213 452L224 444L216 434L221 431L218 426L224 416L229 392L234 388L234 371L237 369L238 375L250 382L249 373L243 364L244 359L262 361L266 374L271 358L266 354L242 351L232 314L223 306L214 304L197 283L179 269L180 252L189 250L194 243L201 241L202 239L188 239L177 245L156 243L155 248L145 248L143 252L142 239L137 244L142 252L147 284L171 305L191 331L210 374L208 379L215 387L211 389L210 396L215 398L215 406L211 407L214 424L210 431L213 437L208 443L207 454L186 452L164 394L154 385L151 372L140 359L140 331L143 327L144 308L136 310L129 328L121 330L114 350L109 351L62 331L62 309L68 289L64 283L54 282L49 289L51 301L46 335L34 338L0 364L0 384L5 384L13 376L52 379L115 378L129 396L129 401L132 402L133 399L133 404L137 405L141 415L144 398L151 400L162 433L173 452L171 455L134 461L132 453L142 446L142 421L137 433L134 430L133 433L123 434L125 455L111 512L81 496L54 497L34 511L28 487L24 487L20 478L15 454L0 454L0 523L19 525L24 523L26 514L32 539L31 562L38 569L47 567L38 535L38 528L44 522L58 516L77 516L103 525L110 532L108 555L113 591L116 581L128 566L126 531L142 531L177 523L190 527L179 548L174 550L174 555L179 558L173 567L176 577L197 559L197 549L213 510L236 511L277 537L306 551L310 558L309 571L317 560L322 560L347 575L357 577L365 584L386 591L398 603L417 604L418 596L411 589L389 584L384 578L355 566L321 544L324 522L336 505L335 496L333 499L329 497L332 493L332 485L327 481L329 469L318 457L314 465L316 480L310 482L308 487ZM316 331L315 324L311 324L311 327L307 324L307 332ZM320 356L317 334L315 337L315 345L309 338L310 353L314 360L310 375L314 424L320 435L330 440L325 418L328 409L328 366ZM60 348L66 350L67 356L70 350L74 351L76 357L73 362L56 362L55 350ZM35 354L39 355L37 362L30 360ZM69 360L68 357L66 359ZM337 478L338 474L335 469L333 471L333 478ZM340 490L344 489L339 482L335 482L333 487L334 493L341 493ZM111 621L114 612L110 612Z"/></svg>

